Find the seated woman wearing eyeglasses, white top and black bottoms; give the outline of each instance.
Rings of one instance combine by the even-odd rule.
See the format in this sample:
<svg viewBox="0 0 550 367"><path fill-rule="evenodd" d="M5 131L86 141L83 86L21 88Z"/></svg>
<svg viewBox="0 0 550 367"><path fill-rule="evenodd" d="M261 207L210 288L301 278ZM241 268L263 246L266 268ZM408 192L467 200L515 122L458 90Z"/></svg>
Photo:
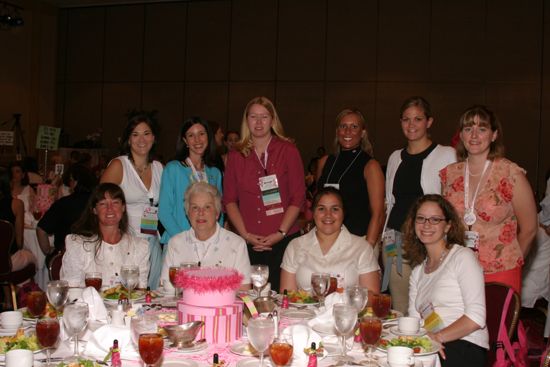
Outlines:
<svg viewBox="0 0 550 367"><path fill-rule="evenodd" d="M489 348L485 282L474 252L464 247L462 221L442 196L424 195L411 207L403 229L413 267L409 316L423 318L430 336L442 343L443 367L484 366Z"/></svg>

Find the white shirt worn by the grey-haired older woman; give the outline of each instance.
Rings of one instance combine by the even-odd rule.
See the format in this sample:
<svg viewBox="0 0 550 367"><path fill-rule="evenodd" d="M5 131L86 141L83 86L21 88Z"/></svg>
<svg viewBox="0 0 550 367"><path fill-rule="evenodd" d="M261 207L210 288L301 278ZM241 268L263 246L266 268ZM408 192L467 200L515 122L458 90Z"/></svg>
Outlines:
<svg viewBox="0 0 550 367"><path fill-rule="evenodd" d="M250 284L250 260L246 242L217 223L216 232L206 241L200 241L193 228L170 239L161 272L161 282L165 289L173 289L168 276L170 267L184 262L233 268L244 276L242 284Z"/></svg>

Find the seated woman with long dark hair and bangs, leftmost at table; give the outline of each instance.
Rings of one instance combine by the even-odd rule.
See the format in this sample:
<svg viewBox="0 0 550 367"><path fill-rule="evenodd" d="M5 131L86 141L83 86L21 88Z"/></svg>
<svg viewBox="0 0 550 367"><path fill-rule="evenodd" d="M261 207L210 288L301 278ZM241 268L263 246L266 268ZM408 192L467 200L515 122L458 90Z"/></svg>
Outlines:
<svg viewBox="0 0 550 367"><path fill-rule="evenodd" d="M88 272L100 272L103 287L114 286L122 265L137 265L138 287L147 286L149 243L129 233L124 192L116 184L102 183L92 192L65 248L60 277L71 287L84 287Z"/></svg>

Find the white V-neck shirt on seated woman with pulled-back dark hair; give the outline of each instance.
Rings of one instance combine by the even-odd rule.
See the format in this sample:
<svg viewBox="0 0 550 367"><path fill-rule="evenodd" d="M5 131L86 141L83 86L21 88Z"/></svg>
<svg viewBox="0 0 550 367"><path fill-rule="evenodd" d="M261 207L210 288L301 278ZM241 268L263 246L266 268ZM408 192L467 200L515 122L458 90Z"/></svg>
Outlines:
<svg viewBox="0 0 550 367"><path fill-rule="evenodd" d="M372 246L345 226L330 250L323 255L313 229L288 244L281 268L296 274L298 288L311 289L311 274L330 273L344 279L346 287L357 285L359 275L380 270Z"/></svg>

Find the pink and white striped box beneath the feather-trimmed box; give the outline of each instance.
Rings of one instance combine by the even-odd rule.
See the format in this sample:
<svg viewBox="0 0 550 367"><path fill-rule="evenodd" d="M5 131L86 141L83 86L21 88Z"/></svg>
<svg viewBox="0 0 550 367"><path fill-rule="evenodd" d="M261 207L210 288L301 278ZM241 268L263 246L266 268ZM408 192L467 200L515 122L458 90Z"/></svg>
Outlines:
<svg viewBox="0 0 550 367"><path fill-rule="evenodd" d="M228 306L193 306L178 301L178 322L204 321L197 339L208 343L225 344L238 340L243 331L243 303L235 301Z"/></svg>

